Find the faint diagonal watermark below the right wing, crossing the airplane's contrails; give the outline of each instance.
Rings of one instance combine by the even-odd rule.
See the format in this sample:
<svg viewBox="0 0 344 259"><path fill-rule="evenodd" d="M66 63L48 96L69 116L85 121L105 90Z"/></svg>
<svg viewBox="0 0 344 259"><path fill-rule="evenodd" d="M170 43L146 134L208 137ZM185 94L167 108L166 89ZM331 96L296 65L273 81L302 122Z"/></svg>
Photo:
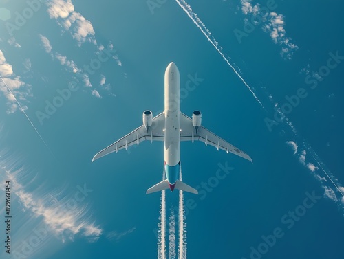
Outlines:
<svg viewBox="0 0 344 259"><path fill-rule="evenodd" d="M189 198L184 201L184 216L188 216L189 212L191 210L195 210L197 207L197 200L203 201L206 199L209 193L213 192L217 186L219 186L220 181L223 181L228 177L228 174L230 174L231 171L234 170L233 167L228 166L228 162L218 163L218 168L215 171L215 174L208 178L207 181L202 181L199 185L195 187L195 189L198 191L197 199ZM178 206L173 207L173 210L176 214L179 213ZM158 229L153 229L154 235L158 238Z"/></svg>

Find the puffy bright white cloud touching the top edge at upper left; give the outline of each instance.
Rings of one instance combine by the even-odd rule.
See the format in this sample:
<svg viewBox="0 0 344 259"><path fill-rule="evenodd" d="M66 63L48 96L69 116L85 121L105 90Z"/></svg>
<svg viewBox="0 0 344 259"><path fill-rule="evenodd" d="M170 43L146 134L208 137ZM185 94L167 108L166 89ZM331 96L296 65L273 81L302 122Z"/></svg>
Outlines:
<svg viewBox="0 0 344 259"><path fill-rule="evenodd" d="M51 0L47 1L47 6L50 18L56 19L64 30L69 31L79 46L85 41L97 44L92 23L74 11L72 0Z"/></svg>

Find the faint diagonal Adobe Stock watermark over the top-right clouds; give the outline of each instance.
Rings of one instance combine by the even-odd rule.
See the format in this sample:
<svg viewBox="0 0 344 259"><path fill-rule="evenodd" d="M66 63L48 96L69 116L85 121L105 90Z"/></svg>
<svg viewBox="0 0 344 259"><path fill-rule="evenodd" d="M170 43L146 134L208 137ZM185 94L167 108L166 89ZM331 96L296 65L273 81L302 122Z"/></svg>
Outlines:
<svg viewBox="0 0 344 259"><path fill-rule="evenodd" d="M250 21L246 21L244 23L244 28L242 30L234 29L233 32L239 44L242 42L243 37L247 37L251 34L255 28L260 25L262 22L266 21L266 17L269 15L271 10L275 10L277 8L277 3L275 0L268 0L266 1L266 6L259 7L259 13L252 15Z"/></svg>

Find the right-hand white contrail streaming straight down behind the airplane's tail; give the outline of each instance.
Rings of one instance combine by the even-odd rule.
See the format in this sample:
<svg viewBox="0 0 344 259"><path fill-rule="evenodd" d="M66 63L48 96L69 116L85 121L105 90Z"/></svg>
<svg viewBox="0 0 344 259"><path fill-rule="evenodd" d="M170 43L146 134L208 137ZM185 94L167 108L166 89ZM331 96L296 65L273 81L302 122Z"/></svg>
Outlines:
<svg viewBox="0 0 344 259"><path fill-rule="evenodd" d="M182 166L180 166L180 181L182 181ZM186 223L184 223L184 194L179 190L179 211L178 211L178 228L179 228L179 247L178 259L186 259Z"/></svg>

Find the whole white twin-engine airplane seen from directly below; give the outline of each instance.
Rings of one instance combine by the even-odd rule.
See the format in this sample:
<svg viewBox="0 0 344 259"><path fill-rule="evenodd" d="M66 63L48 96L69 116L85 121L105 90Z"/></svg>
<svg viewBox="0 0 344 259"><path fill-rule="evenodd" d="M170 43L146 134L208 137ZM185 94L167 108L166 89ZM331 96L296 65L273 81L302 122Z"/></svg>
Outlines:
<svg viewBox="0 0 344 259"><path fill-rule="evenodd" d="M164 74L164 111L153 117L149 110L142 115L143 125L131 131L131 133L118 139L116 142L104 148L94 155L96 159L118 152L132 145L138 145L144 140L164 142L164 173L166 179L149 188L146 194L161 190L174 189L198 194L197 190L179 180L180 174L180 142L195 140L206 145L215 146L227 153L233 153L252 162L249 155L239 150L226 140L218 137L202 126L202 113L193 111L192 118L180 111L180 73L177 65L171 62Z"/></svg>

